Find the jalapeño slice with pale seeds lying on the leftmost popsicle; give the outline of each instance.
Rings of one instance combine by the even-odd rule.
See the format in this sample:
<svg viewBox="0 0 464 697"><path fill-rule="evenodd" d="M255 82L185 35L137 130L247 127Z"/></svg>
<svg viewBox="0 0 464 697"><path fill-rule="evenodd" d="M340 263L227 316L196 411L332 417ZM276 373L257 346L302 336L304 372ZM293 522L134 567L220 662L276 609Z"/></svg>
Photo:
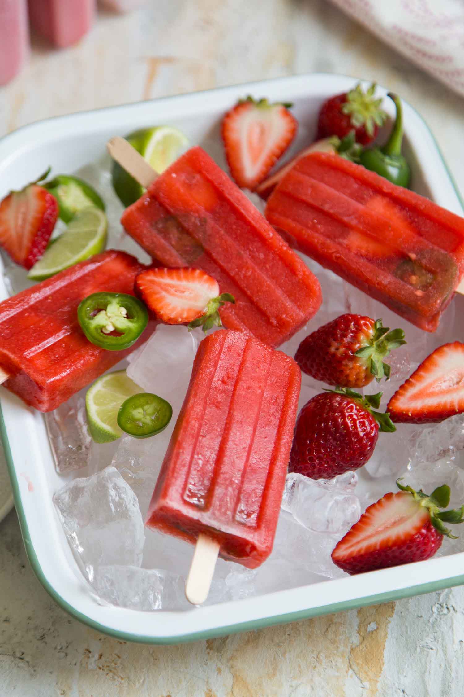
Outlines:
<svg viewBox="0 0 464 697"><path fill-rule="evenodd" d="M77 318L89 342L107 351L129 348L148 322L148 311L126 293L92 293L77 308Z"/></svg>

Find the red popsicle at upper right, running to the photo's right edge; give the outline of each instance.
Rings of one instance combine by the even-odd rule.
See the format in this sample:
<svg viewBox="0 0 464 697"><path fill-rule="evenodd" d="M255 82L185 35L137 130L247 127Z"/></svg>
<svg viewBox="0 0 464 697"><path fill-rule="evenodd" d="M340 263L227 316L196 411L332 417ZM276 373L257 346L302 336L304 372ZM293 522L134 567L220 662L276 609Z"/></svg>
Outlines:
<svg viewBox="0 0 464 697"><path fill-rule="evenodd" d="M339 155L298 160L265 215L292 247L429 332L463 277L463 218Z"/></svg>

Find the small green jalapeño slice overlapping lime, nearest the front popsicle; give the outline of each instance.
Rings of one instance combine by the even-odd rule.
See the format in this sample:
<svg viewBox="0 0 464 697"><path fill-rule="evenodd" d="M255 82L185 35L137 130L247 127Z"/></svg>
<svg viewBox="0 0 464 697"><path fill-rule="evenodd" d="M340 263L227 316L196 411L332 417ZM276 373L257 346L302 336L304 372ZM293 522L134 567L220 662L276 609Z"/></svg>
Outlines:
<svg viewBox="0 0 464 697"><path fill-rule="evenodd" d="M166 399L141 392L122 402L118 426L134 438L150 438L166 428L172 415L173 407Z"/></svg>

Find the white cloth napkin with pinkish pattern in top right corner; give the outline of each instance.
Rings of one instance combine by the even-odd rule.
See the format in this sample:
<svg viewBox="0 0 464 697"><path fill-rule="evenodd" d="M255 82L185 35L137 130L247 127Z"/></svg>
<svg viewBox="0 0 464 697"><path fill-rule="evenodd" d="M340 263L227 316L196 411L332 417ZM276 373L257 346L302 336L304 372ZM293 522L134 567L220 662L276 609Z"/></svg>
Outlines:
<svg viewBox="0 0 464 697"><path fill-rule="evenodd" d="M423 70L464 95L464 0L332 0Z"/></svg>

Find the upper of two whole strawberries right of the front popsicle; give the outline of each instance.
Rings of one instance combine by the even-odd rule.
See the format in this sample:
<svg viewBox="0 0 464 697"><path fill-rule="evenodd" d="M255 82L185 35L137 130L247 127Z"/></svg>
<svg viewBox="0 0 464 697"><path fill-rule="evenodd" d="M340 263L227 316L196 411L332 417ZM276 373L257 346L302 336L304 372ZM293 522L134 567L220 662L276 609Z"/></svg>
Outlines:
<svg viewBox="0 0 464 697"><path fill-rule="evenodd" d="M342 314L303 339L295 360L304 373L327 385L363 388L374 378L390 377L383 359L403 344L402 329L390 331L381 319Z"/></svg>

